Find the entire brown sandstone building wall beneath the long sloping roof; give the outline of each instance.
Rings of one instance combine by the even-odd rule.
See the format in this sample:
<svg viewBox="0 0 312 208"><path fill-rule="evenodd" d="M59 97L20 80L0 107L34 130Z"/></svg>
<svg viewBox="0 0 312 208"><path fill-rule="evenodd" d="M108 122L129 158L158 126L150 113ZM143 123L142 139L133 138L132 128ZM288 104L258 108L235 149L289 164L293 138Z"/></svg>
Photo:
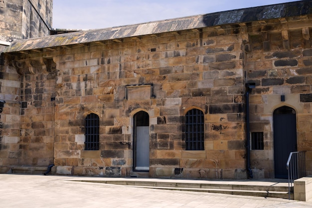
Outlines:
<svg viewBox="0 0 312 208"><path fill-rule="evenodd" d="M4 144L1 162L43 166L53 161L56 174L140 175L133 171L133 117L145 111L148 176L245 179L244 93L245 83L254 82L250 131L264 134L263 150L251 150L254 178L275 177L273 112L284 105L296 110L298 150L307 151L311 174L311 19L271 19L5 54L2 69L15 69L11 79L21 80L16 87L20 135L10 138L15 143ZM185 148L185 114L192 108L204 114L201 151ZM96 151L84 145L90 113L100 119Z"/></svg>

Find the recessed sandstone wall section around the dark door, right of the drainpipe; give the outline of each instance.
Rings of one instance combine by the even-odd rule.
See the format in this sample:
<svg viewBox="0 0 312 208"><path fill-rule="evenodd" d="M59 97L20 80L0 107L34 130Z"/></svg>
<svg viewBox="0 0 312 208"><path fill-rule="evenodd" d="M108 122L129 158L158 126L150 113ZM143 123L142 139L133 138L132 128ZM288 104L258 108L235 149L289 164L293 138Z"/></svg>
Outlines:
<svg viewBox="0 0 312 208"><path fill-rule="evenodd" d="M264 150L251 151L251 168L258 177L274 178L273 112L281 106L296 111L297 148L307 151L307 175L311 174L312 28L306 27L308 18L297 20L279 27L268 24L261 32L254 28L249 34L245 70L248 82L256 83L250 96L250 128L264 132Z"/></svg>

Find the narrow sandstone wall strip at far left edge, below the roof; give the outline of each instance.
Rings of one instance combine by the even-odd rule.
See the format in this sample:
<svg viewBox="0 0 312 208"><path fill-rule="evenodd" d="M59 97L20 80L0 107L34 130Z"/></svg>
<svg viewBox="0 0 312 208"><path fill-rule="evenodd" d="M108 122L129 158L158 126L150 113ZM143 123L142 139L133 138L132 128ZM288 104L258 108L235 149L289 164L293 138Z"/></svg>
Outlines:
<svg viewBox="0 0 312 208"><path fill-rule="evenodd" d="M0 166L7 167L17 165L19 158L20 76L4 60L0 63L0 91Z"/></svg>

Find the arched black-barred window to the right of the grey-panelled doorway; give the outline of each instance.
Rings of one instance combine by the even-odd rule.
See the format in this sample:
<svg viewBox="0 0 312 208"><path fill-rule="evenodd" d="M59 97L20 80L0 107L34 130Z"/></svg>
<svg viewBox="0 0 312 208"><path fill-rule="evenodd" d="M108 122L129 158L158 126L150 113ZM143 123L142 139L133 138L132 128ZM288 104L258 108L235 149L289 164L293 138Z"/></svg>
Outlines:
<svg viewBox="0 0 312 208"><path fill-rule="evenodd" d="M204 114L198 109L186 113L186 150L204 150Z"/></svg>

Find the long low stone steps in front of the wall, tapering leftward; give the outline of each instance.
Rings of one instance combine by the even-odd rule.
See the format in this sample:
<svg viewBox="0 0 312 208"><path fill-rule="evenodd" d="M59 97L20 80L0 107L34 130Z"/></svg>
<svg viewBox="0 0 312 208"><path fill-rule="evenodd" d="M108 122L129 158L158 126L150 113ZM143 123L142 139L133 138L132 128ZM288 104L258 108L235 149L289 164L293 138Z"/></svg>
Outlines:
<svg viewBox="0 0 312 208"><path fill-rule="evenodd" d="M207 193L218 193L218 194L229 194L229 195L242 195L242 196L254 196L254 197L270 197L270 198L281 198L289 199L289 192L287 183L261 183L264 185L256 185L257 183L251 181L240 182L240 181L191 181L191 183L174 182L169 180L162 181L147 181L147 180L95 180L85 181L93 183L105 183L114 185L123 185L131 187L140 187L147 189L163 189L163 190L176 190L176 191L191 191L191 192L207 192ZM190 181L190 180L188 180ZM259 184L259 183L258 183ZM279 186L280 184L280 186ZM292 192L293 188L291 189ZM291 193L291 199L294 199L294 195Z"/></svg>

